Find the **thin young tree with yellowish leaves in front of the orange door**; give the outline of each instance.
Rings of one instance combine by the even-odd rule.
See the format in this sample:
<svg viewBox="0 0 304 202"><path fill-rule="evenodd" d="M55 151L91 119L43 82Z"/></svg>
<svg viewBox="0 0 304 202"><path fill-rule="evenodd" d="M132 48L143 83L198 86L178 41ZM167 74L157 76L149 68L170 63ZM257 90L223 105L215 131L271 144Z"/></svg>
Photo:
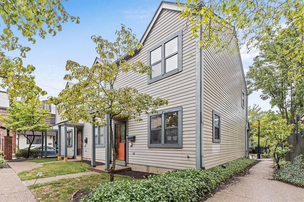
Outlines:
<svg viewBox="0 0 304 202"><path fill-rule="evenodd" d="M133 56L142 44L125 25L116 31L116 40L109 42L101 36L93 35L96 52L100 62L92 67L81 66L77 62L68 60L66 70L71 71L64 79L75 79L78 82L59 93L58 98L50 97L50 101L60 103L58 113L63 119L73 123L83 120L95 126L107 126L105 115L109 116L110 142L112 146L112 166L110 181L114 180L116 164L116 145L114 143L112 119L115 116L129 120L142 121L144 113L156 113L158 107L168 104L167 99L153 98L140 93L130 86L116 86L120 74L136 72L150 75L150 66L144 62L129 63L125 56Z"/></svg>

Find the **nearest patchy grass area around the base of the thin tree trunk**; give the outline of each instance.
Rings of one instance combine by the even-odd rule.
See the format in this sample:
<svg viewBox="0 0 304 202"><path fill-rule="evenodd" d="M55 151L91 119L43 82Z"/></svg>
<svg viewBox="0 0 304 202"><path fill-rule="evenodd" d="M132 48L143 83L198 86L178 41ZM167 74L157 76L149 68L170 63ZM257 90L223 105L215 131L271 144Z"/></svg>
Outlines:
<svg viewBox="0 0 304 202"><path fill-rule="evenodd" d="M128 176L115 175L114 180L133 179ZM76 191L88 191L96 187L99 183L108 181L109 174L101 173L30 185L29 189L34 193L38 201L69 201Z"/></svg>

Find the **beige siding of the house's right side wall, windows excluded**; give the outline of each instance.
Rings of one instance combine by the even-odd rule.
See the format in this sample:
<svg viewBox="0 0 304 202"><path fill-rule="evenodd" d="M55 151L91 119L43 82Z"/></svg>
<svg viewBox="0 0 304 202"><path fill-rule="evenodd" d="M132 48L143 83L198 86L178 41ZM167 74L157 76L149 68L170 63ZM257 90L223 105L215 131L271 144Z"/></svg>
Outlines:
<svg viewBox="0 0 304 202"><path fill-rule="evenodd" d="M240 55L204 51L204 163L206 169L245 156L247 96ZM245 106L242 107L242 90ZM221 142L212 142L212 110L221 114Z"/></svg>

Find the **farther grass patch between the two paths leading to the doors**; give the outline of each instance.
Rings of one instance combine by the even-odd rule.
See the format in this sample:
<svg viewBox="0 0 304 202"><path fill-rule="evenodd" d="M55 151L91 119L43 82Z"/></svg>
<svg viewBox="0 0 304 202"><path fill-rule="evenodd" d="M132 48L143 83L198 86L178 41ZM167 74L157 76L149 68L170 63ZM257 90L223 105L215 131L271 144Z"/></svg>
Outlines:
<svg viewBox="0 0 304 202"><path fill-rule="evenodd" d="M34 168L28 171L22 171L18 173L18 176L21 180L33 180L36 179L37 173L42 172L44 177L54 177L58 175L66 175L72 173L82 173L87 172L89 165L82 162L52 162L52 163L43 163L42 167Z"/></svg>

